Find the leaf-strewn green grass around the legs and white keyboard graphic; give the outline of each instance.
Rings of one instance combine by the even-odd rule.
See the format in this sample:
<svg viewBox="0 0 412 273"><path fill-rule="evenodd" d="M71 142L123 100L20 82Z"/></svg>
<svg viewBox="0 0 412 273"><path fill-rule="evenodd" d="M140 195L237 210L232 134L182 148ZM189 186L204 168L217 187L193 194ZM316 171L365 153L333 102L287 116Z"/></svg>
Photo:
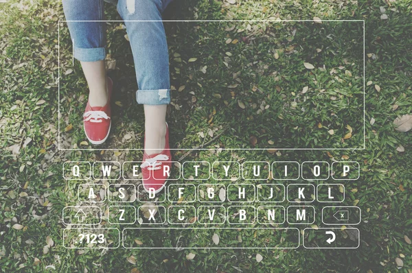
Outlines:
<svg viewBox="0 0 412 273"><path fill-rule="evenodd" d="M380 18L380 5L385 7L389 19ZM363 147L362 23L249 23L250 27L248 23L238 23L233 29L231 23L165 23L172 86L176 88L168 111L171 143L176 149L203 147L205 143L208 144L204 147L214 149L190 153L176 150L174 158L211 163L251 160L332 163L343 158L358 161L361 178L342 182L346 193L342 205L356 204L362 209L362 222L356 226L361 230L360 248L70 250L63 247L65 226L61 212L65 206L78 203L77 187L84 182L64 180L62 164L138 161L141 151L58 151L57 25L59 20L65 20L61 4L45 0L0 3L1 271L411 272L412 246L404 239L405 235L412 238L411 134L397 132L392 123L412 110L410 7L409 1L268 0L236 1L235 5L181 1L181 5L172 6L168 15L171 19L196 20L312 19L314 16L323 20L365 20L365 82L372 84L365 89L365 150L355 151L271 148ZM108 5L106 13L108 20L119 20L114 7ZM124 38L126 32L120 25L107 25L108 51L117 61L116 69L110 72L117 92L113 106L116 127L106 147L139 149L144 137L143 112L133 100L137 90L135 71ZM60 110L65 113L60 117L60 145L87 148L89 145L82 144L86 139L79 115L87 101L86 82L78 62L71 66L71 45L64 23L60 25L60 38ZM229 38L232 41L227 43ZM238 42L233 43L236 39ZM318 48L322 50L318 52ZM189 62L190 58L197 60ZM315 69L306 69L304 62L313 64ZM325 71L319 69L323 64ZM339 69L341 66L344 68ZM332 68L336 73L330 73ZM308 91L303 93L305 86ZM321 92L323 88L326 90ZM65 132L70 124L73 128ZM352 137L343 139L349 131L347 125L353 130ZM329 130L334 130L334 134ZM219 137L214 139L216 136ZM399 145L405 152L396 150ZM220 150L231 147L263 150ZM290 181L281 183L287 186ZM318 184L323 182L314 182ZM176 198L177 191L173 193ZM132 204L139 210L142 203ZM170 204L168 200L163 202L165 208ZM106 208L108 205L107 200L102 204ZM195 204L198 205L201 204ZM312 205L321 211L321 204ZM142 220L145 221L144 217ZM319 213L315 224L323 226ZM103 226L124 228L119 224ZM218 232L222 241L239 233L242 244L255 244L251 231ZM256 238L273 236L264 230ZM200 229L150 231L150 236L140 238L146 239L148 245L160 244L162 239L170 246L176 246L178 241L188 247L211 245L210 232ZM294 239L287 241L292 244ZM196 256L187 259L190 253ZM256 261L257 254L263 257L260 263ZM396 258L403 261L399 270Z"/></svg>

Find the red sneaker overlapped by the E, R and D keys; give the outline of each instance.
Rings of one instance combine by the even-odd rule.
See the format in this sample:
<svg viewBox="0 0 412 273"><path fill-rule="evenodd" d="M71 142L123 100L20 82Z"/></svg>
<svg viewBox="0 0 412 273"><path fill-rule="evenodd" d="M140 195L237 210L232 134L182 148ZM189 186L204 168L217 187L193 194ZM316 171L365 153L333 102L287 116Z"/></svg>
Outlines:
<svg viewBox="0 0 412 273"><path fill-rule="evenodd" d="M143 154L144 163L140 165L143 187L146 192L158 193L165 187L172 169L172 154L169 146L169 126L166 123L165 148L160 154Z"/></svg>

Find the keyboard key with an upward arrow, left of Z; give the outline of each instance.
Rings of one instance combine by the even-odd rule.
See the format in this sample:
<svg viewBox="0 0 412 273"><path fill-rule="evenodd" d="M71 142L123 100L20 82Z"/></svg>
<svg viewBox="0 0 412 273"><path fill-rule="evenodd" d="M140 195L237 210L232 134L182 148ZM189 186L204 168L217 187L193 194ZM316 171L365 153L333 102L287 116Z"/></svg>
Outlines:
<svg viewBox="0 0 412 273"><path fill-rule="evenodd" d="M102 209L98 206L66 206L62 212L65 225L91 226L102 222Z"/></svg>

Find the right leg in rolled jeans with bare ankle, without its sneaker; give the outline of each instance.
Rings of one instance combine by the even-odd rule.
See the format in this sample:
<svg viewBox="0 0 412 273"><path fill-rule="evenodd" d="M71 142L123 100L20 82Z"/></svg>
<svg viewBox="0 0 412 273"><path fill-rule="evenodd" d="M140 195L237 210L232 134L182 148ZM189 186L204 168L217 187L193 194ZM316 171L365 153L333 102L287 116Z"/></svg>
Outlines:
<svg viewBox="0 0 412 273"><path fill-rule="evenodd" d="M165 147L166 107L170 103L169 55L161 12L168 1L119 0L117 10L124 19L133 51L139 91L144 104L145 152L158 154Z"/></svg>

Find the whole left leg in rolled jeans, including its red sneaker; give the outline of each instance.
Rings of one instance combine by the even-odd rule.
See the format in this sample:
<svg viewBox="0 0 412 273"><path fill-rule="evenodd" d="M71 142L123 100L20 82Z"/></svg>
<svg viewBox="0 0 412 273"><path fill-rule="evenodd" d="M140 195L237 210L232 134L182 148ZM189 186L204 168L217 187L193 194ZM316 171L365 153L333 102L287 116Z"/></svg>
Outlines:
<svg viewBox="0 0 412 273"><path fill-rule="evenodd" d="M106 80L106 32L103 0L63 0L63 10L73 40L74 58L80 60L89 86L83 114L87 139L99 145L111 129L110 95L113 82Z"/></svg>

